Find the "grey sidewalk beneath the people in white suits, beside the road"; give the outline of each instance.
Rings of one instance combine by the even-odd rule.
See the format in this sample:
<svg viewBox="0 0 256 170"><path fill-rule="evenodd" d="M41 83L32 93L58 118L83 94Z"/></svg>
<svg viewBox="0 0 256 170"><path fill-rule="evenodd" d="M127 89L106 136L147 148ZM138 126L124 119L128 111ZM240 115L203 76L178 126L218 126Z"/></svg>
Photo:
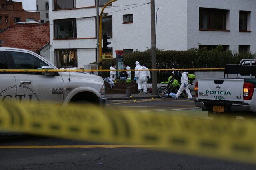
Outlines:
<svg viewBox="0 0 256 170"><path fill-rule="evenodd" d="M194 90L191 90L191 95L192 95L192 97L196 96ZM154 94L151 94L151 93L148 93L148 94L134 93L134 94L131 94L131 96L129 96L129 97L126 97L126 94L106 94L105 96L108 100L134 100L134 99L152 99L152 98L155 99L155 98L158 98L157 95L154 95ZM168 98L171 98L171 97L172 96L168 96Z"/></svg>

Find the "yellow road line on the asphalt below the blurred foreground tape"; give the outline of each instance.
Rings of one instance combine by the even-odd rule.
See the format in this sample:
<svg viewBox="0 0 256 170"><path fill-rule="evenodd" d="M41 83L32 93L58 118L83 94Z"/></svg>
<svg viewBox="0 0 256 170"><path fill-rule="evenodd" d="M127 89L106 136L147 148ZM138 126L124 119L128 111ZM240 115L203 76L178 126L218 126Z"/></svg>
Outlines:
<svg viewBox="0 0 256 170"><path fill-rule="evenodd" d="M0 149L34 149L34 148L144 148L157 147L156 145L30 145L30 146L0 146Z"/></svg>

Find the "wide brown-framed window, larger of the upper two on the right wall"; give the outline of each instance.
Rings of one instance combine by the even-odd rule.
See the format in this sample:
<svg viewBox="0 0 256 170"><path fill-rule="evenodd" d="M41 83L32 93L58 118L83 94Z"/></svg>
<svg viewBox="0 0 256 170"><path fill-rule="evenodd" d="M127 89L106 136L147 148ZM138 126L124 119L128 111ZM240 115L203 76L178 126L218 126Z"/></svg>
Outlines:
<svg viewBox="0 0 256 170"><path fill-rule="evenodd" d="M218 9L218 8L203 8L199 7L199 31L230 31L227 29L227 21L228 21L228 11L226 9ZM202 12L208 12L208 19L207 19L207 28L202 28L203 25L203 18L202 18ZM214 28L216 25L214 25L214 19L216 19L216 14L220 14L220 18L222 25L220 29ZM221 23L219 22L219 23Z"/></svg>

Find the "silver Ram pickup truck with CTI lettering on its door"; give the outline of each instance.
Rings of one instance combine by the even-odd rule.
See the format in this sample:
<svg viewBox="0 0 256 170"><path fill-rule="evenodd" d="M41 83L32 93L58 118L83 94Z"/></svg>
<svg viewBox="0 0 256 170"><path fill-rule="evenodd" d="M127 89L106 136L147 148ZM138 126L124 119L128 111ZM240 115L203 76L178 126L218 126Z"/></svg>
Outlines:
<svg viewBox="0 0 256 170"><path fill-rule="evenodd" d="M40 55L0 47L0 69L55 69ZM0 72L0 101L39 104L92 103L106 106L101 77L84 72Z"/></svg>

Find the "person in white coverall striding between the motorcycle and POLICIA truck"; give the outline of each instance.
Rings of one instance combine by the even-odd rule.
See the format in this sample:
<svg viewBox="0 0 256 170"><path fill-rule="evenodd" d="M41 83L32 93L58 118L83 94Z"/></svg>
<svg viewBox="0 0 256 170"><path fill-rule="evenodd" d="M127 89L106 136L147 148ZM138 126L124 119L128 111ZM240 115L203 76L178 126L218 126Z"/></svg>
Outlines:
<svg viewBox="0 0 256 170"><path fill-rule="evenodd" d="M184 72L183 70L181 70L180 73L182 74L181 80L180 80L181 86L180 86L180 89L179 89L178 93L175 96L172 96L172 97L177 100L178 97L180 96L180 94L185 89L186 93L188 94L187 100L192 100L192 96L191 96L191 93L190 93L189 88L188 88L188 76L187 76L188 72Z"/></svg>

